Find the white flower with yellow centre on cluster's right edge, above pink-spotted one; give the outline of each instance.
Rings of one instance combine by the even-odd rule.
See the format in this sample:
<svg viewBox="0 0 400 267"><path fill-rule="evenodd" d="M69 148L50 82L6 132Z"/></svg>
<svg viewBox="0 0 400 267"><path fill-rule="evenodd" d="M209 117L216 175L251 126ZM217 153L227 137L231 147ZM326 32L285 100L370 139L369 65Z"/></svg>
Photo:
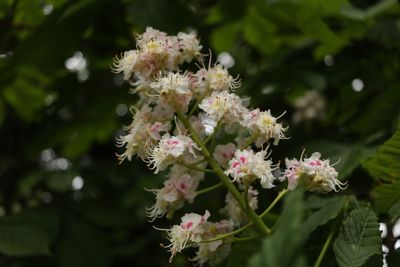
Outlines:
<svg viewBox="0 0 400 267"><path fill-rule="evenodd" d="M279 140L286 139L284 133L287 130L277 122L278 118L273 117L270 110L260 111L257 108L245 114L241 124L251 133L259 133L256 140L258 147L262 147L269 139L274 139L274 145L277 145Z"/></svg>

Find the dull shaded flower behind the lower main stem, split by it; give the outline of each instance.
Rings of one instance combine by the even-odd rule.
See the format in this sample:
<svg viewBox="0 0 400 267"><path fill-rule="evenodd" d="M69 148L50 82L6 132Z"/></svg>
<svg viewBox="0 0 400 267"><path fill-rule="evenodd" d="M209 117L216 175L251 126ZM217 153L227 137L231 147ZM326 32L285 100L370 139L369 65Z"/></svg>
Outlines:
<svg viewBox="0 0 400 267"><path fill-rule="evenodd" d="M251 209L256 210L258 208L258 191L249 187L247 192L247 199ZM247 215L243 212L239 206L237 200L232 196L231 193L227 193L225 197L225 207L221 210L222 213L226 214L235 225L243 225L248 222Z"/></svg>

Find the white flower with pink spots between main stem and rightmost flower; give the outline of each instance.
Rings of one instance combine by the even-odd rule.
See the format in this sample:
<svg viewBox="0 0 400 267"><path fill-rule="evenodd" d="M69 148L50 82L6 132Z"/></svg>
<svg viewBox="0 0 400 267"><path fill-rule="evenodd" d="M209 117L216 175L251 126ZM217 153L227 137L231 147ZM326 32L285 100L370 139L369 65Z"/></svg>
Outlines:
<svg viewBox="0 0 400 267"><path fill-rule="evenodd" d="M276 170L278 165L272 164L271 160L265 160L266 157L266 150L257 153L254 153L251 149L236 150L235 156L229 161L229 168L225 173L239 184L260 179L263 188L272 188L275 180L272 171Z"/></svg>

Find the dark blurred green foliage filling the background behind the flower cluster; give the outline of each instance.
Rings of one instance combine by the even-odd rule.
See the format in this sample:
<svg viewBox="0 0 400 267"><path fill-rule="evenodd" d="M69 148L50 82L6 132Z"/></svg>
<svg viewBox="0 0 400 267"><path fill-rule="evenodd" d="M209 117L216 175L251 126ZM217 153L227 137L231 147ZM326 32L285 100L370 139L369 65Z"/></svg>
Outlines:
<svg viewBox="0 0 400 267"><path fill-rule="evenodd" d="M144 209L153 196L143 188L159 187L163 177L139 161L118 166L114 156L114 138L136 98L109 66L146 26L171 34L195 29L206 49L235 59L239 94L274 115L287 111L292 138L274 149L274 160L318 150L341 159L340 178L349 180L343 194L354 211L339 213L344 198L290 196L273 236L235 244L238 260L226 265L310 265L340 223L333 217L347 218L340 244L343 228L372 212L367 203L391 229L400 216L399 15L395 0L1 1L0 265L170 266L159 246L164 237ZM84 59L84 68L68 65L71 58L80 60L75 67ZM294 124L296 99L309 90L326 100L323 119ZM218 210L223 196L210 197L215 201L199 197L187 209L202 212L207 203ZM338 201L338 210L324 209L329 201ZM302 229L316 234L302 240ZM391 233L383 240L389 266L400 265L394 241ZM177 256L173 266L190 265L186 258ZM350 266L346 259L340 265ZM332 250L323 266L336 266Z"/></svg>

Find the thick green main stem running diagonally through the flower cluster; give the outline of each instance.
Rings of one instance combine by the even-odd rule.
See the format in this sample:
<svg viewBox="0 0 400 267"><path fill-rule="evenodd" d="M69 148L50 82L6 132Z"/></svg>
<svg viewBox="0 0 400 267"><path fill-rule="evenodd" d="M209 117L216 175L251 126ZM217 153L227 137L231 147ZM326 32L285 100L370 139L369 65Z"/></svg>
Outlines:
<svg viewBox="0 0 400 267"><path fill-rule="evenodd" d="M177 112L179 120L183 123L186 129L191 133L191 137L193 141L200 147L203 156L206 158L211 168L215 171L215 173L220 178L222 184L228 189L228 191L232 194L232 196L239 203L239 206L246 213L247 217L254 223L254 226L262 233L263 235L268 235L271 230L264 224L263 220L258 217L258 215L252 209L246 209L246 204L243 201L243 198L240 192L237 190L235 185L230 181L229 177L224 173L224 171L219 167L218 163L211 157L210 152L207 150L206 146L202 142L202 140L197 136L196 132L193 130L190 125L188 119L180 112Z"/></svg>

